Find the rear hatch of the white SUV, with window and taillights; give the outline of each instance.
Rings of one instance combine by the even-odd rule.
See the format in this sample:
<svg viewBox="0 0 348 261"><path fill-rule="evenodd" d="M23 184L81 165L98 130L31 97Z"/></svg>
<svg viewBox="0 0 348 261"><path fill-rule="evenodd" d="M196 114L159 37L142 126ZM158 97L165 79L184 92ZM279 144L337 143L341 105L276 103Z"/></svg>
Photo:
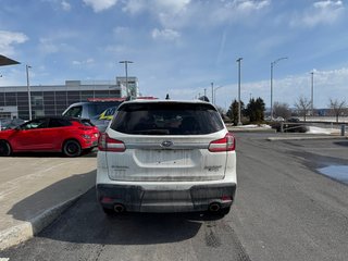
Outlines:
<svg viewBox="0 0 348 261"><path fill-rule="evenodd" d="M127 102L101 137L109 177L126 182L224 178L234 138L206 102Z"/></svg>

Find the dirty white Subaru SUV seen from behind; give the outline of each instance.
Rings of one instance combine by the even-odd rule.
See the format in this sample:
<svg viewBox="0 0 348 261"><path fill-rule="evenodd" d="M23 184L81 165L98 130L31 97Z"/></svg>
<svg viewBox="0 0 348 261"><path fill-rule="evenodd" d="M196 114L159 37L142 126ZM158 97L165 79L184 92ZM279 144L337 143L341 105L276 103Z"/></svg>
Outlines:
<svg viewBox="0 0 348 261"><path fill-rule="evenodd" d="M209 102L124 102L98 148L97 197L108 214L229 212L235 138Z"/></svg>

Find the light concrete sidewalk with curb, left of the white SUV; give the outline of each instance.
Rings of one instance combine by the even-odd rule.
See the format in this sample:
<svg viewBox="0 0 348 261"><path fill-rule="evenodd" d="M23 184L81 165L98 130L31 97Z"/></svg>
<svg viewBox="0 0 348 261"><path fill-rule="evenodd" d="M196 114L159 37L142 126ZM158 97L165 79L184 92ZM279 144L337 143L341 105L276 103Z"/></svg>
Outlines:
<svg viewBox="0 0 348 261"><path fill-rule="evenodd" d="M95 186L97 159L0 157L0 250L39 233Z"/></svg>

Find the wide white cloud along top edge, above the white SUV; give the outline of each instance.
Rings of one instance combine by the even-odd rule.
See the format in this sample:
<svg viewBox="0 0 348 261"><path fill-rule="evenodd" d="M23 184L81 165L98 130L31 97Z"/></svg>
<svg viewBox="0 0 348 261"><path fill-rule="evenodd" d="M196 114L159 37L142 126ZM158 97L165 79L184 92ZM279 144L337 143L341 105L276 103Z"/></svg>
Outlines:
<svg viewBox="0 0 348 261"><path fill-rule="evenodd" d="M150 13L163 28L207 27L225 22L241 22L240 17L251 17L265 10L271 0L128 0L124 12Z"/></svg>

